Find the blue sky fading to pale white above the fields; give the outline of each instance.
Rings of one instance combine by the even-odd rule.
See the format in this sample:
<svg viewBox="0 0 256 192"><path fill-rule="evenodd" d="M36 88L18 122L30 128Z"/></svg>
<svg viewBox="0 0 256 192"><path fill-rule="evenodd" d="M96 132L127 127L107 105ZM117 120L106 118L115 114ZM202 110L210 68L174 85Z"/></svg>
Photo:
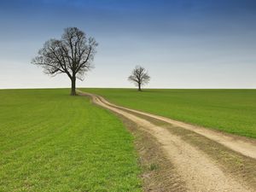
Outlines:
<svg viewBox="0 0 256 192"><path fill-rule="evenodd" d="M0 89L69 87L31 64L49 38L79 27L99 43L79 87L256 88L255 0L0 1Z"/></svg>

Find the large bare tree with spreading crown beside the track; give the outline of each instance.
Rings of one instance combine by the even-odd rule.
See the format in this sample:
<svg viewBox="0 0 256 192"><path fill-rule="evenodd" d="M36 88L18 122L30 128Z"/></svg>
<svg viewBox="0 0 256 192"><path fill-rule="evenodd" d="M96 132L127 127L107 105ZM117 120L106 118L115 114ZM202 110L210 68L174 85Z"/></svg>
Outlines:
<svg viewBox="0 0 256 192"><path fill-rule="evenodd" d="M32 64L44 68L44 73L55 76L66 73L71 80L71 95L76 95L76 79L84 80L84 73L93 66L96 40L87 38L77 27L67 27L61 39L49 39L39 49Z"/></svg>

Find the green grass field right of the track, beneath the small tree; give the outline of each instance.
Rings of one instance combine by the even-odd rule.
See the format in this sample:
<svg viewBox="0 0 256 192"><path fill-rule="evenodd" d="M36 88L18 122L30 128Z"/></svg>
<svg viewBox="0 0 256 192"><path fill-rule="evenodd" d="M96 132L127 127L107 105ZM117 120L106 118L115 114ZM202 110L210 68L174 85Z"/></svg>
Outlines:
<svg viewBox="0 0 256 192"><path fill-rule="evenodd" d="M81 90L127 108L256 138L256 90Z"/></svg>

